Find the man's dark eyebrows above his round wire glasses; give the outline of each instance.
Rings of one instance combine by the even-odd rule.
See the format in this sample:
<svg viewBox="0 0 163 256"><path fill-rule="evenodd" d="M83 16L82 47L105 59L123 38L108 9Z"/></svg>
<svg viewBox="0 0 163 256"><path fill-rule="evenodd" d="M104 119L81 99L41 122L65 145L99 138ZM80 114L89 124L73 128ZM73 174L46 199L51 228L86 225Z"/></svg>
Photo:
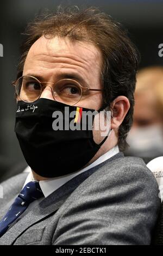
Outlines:
<svg viewBox="0 0 163 256"><path fill-rule="evenodd" d="M40 80L40 82L44 81L44 78L42 76L36 75L36 74L26 74L25 76L34 76L35 78L37 78L38 80ZM61 79L72 79L72 80L76 80L77 82L81 83L82 86L84 87L90 87L89 84L86 83L86 81L84 80L84 78L78 74L68 74L68 73L57 73L55 74L55 78L57 78L57 80L61 80ZM45 81L46 82L46 81Z"/></svg>

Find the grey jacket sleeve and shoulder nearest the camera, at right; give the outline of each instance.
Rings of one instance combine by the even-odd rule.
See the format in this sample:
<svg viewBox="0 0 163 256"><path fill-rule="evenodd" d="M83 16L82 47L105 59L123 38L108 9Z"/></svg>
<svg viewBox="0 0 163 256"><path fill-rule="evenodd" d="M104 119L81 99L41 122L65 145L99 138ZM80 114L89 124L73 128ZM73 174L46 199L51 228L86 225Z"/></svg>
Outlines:
<svg viewBox="0 0 163 256"><path fill-rule="evenodd" d="M149 245L158 185L143 160L120 157L97 168L64 204L54 245Z"/></svg>

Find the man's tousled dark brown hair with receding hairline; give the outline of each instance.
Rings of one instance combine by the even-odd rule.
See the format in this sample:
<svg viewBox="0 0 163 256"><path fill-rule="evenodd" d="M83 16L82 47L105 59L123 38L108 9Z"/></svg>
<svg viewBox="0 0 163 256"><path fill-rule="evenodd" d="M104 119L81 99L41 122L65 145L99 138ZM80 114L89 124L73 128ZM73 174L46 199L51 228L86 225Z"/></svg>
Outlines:
<svg viewBox="0 0 163 256"><path fill-rule="evenodd" d="M126 29L98 8L79 10L78 7L62 9L55 13L41 14L30 22L22 44L22 56L18 64L17 78L22 76L24 62L34 42L42 35L67 37L71 41L91 42L102 53L101 78L103 85L103 107L120 95L130 102L129 111L118 128L120 150L127 146L126 137L133 123L134 91L139 52L130 41Z"/></svg>

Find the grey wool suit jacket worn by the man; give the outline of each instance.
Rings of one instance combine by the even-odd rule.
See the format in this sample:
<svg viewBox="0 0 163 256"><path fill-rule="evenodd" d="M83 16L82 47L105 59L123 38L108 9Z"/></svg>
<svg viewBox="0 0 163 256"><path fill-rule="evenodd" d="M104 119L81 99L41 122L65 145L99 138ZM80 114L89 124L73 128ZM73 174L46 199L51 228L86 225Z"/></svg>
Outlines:
<svg viewBox="0 0 163 256"><path fill-rule="evenodd" d="M1 218L26 177L22 173L1 184ZM148 245L160 208L158 192L141 159L118 153L43 199L0 245Z"/></svg>

